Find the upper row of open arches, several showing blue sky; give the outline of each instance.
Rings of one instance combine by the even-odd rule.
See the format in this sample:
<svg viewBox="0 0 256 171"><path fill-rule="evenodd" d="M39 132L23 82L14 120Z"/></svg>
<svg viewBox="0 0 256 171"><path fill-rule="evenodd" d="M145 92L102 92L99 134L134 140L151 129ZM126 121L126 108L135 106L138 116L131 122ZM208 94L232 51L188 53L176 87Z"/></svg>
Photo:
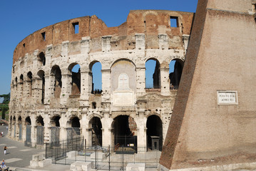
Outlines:
<svg viewBox="0 0 256 171"><path fill-rule="evenodd" d="M91 80L91 93L101 93L102 92L102 74L101 74L101 63L98 61L93 61L90 65L89 80ZM169 63L169 79L170 89L178 89L180 83L181 73L183 71L183 61L180 59L174 59ZM160 88L160 63L155 58L150 58L145 63L145 88ZM81 94L81 67L78 63L71 63L68 66L68 82L71 83L70 95L80 95ZM60 98L61 88L63 86L63 73L58 65L54 65L51 68L51 88L53 88L54 98ZM163 79L163 78L162 78ZM35 81L33 81L35 80ZM39 70L36 76L33 76L31 71L26 73L26 96L31 96L32 88L35 88L33 83L36 83L36 88L41 90L41 92L36 95L36 98L41 98L41 103L44 101L45 96L45 72ZM23 97L24 93L24 75L21 74L18 78L15 78L15 83L13 81L13 86L19 84L19 95ZM75 96L76 97L76 96Z"/></svg>

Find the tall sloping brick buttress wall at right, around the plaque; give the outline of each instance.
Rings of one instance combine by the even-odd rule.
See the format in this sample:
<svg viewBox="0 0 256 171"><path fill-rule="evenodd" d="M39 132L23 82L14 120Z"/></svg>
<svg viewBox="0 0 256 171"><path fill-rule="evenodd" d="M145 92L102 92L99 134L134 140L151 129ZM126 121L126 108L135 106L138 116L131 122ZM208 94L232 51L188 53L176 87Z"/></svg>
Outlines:
<svg viewBox="0 0 256 171"><path fill-rule="evenodd" d="M251 5L198 1L160 158L168 170L255 162L256 27ZM237 90L237 105L217 104L217 90Z"/></svg>

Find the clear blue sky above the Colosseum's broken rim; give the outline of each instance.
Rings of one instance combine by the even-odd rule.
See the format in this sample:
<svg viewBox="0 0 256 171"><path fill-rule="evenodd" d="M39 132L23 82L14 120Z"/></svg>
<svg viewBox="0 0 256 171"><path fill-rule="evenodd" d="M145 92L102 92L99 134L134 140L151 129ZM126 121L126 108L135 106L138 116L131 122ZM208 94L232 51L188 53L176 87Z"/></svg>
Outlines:
<svg viewBox="0 0 256 171"><path fill-rule="evenodd" d="M98 16L108 27L126 21L130 10L195 12L198 0L0 0L0 95L10 92L14 48L43 27L80 16Z"/></svg>

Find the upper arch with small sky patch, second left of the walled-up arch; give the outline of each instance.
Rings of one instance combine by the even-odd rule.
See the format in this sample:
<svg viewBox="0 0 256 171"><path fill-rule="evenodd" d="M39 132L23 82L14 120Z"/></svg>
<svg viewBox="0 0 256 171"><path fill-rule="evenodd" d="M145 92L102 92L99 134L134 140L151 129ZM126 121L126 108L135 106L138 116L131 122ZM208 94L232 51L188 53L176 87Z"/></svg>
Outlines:
<svg viewBox="0 0 256 171"><path fill-rule="evenodd" d="M80 95L81 92L81 68L78 63L72 63L68 70L72 74L71 95Z"/></svg>

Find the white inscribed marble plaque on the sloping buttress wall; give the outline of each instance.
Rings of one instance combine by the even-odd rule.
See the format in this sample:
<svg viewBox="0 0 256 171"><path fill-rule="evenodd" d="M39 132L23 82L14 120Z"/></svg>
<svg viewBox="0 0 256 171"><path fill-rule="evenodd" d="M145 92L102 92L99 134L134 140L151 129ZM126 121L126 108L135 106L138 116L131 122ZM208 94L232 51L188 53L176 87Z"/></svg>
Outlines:
<svg viewBox="0 0 256 171"><path fill-rule="evenodd" d="M218 90L217 91L218 105L237 105L237 91L235 90Z"/></svg>

